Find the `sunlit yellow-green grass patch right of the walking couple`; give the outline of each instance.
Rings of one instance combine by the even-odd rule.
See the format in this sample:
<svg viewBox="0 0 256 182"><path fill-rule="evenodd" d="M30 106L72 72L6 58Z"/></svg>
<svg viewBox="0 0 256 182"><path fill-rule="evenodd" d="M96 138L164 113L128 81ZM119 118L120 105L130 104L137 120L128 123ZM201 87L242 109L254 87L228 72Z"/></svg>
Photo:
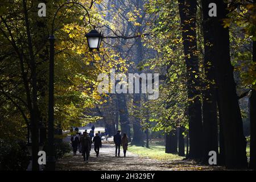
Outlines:
<svg viewBox="0 0 256 182"><path fill-rule="evenodd" d="M159 144L150 144L150 148L129 146L128 150L142 157L158 160L181 160L184 157L177 154L166 154L165 147Z"/></svg>

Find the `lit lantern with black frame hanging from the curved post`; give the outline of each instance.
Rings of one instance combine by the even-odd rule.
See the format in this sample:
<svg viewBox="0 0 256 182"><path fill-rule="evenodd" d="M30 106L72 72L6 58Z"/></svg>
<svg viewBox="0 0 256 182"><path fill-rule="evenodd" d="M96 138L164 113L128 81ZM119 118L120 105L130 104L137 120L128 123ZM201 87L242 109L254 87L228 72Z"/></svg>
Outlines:
<svg viewBox="0 0 256 182"><path fill-rule="evenodd" d="M85 36L87 38L90 51L92 51L92 49L100 49L103 36L97 30L92 30Z"/></svg>

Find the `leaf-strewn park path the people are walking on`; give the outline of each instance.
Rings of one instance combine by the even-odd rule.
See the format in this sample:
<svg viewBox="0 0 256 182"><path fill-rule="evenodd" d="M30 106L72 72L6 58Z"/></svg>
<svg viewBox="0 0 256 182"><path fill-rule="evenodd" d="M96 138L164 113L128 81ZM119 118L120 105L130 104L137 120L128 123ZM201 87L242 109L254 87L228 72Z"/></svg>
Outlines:
<svg viewBox="0 0 256 182"><path fill-rule="evenodd" d="M150 158L142 158L136 154L127 151L126 158L123 157L121 150L121 157L115 157L115 147L113 140L104 141L102 148L100 148L100 155L97 158L93 150L90 151L89 163L85 163L82 155L77 154L73 156L70 154L63 159L57 160L56 170L60 171L101 171L101 170L140 170L140 171L176 171L176 170L220 170L218 167L200 166L188 160L155 160ZM122 147L121 147L122 148ZM129 148L128 148L129 150Z"/></svg>

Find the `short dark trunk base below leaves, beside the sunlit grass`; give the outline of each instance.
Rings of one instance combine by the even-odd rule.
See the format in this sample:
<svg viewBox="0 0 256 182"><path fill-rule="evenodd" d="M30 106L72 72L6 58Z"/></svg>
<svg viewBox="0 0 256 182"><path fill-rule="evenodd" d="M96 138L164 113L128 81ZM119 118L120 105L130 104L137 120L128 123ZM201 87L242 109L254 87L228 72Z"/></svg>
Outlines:
<svg viewBox="0 0 256 182"><path fill-rule="evenodd" d="M177 153L177 131L166 134L166 153Z"/></svg>

